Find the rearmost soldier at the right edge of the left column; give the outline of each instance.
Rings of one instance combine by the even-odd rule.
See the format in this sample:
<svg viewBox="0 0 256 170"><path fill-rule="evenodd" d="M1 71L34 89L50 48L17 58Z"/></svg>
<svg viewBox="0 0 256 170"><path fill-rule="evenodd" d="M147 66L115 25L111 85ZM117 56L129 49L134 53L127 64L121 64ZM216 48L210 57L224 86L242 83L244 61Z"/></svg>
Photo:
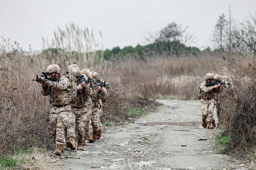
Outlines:
<svg viewBox="0 0 256 170"><path fill-rule="evenodd" d="M95 80L98 79L97 72L90 72L89 76L94 78ZM102 110L102 102L105 102L108 98L108 90L106 87L97 87L97 96L96 99L93 100L93 108L92 108L92 137L94 141L101 137L101 127L102 124L100 123L100 116L103 113Z"/></svg>

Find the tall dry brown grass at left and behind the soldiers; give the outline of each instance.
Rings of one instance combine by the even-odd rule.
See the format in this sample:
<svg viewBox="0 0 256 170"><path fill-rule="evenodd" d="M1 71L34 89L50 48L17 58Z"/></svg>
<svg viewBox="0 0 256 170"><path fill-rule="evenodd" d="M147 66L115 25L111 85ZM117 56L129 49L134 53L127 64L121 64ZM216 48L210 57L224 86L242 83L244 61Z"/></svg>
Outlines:
<svg viewBox="0 0 256 170"><path fill-rule="evenodd" d="M114 61L95 60L89 64L84 55L76 64L98 72L100 78L111 84L103 121L124 121L128 104L138 98L177 96L196 99L198 84L208 72L246 81L253 77L249 71L252 70L250 60L239 56L233 56L237 64L228 65L219 54L152 55L145 57L146 60L124 57ZM31 81L49 64L44 53L25 53L20 49L0 53L0 148L4 152L14 147L51 147L49 97L42 96L40 85ZM57 64L62 66L63 72L66 71L65 64ZM241 68L243 72L240 72Z"/></svg>

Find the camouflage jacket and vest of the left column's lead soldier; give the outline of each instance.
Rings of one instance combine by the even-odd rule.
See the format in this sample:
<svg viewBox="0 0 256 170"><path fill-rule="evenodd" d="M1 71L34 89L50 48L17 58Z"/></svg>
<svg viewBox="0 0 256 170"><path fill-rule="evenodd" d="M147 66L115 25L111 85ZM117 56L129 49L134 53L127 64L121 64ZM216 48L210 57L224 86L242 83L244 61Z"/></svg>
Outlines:
<svg viewBox="0 0 256 170"><path fill-rule="evenodd" d="M56 82L46 81L47 89L42 89L44 96L50 95L50 104L52 105L66 105L70 104L71 98L75 96L74 89L76 84L73 76L60 75ZM75 91L76 92L76 91Z"/></svg>

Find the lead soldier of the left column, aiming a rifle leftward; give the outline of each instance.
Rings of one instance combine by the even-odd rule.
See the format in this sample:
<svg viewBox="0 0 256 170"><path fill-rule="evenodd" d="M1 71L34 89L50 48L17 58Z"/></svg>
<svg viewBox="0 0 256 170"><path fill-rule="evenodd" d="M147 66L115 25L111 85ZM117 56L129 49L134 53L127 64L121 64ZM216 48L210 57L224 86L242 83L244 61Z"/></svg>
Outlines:
<svg viewBox="0 0 256 170"><path fill-rule="evenodd" d="M67 128L66 146L75 150L75 119L71 113L70 102L76 96L76 80L70 75L61 75L60 66L51 64L47 67L49 81L40 82L42 94L50 95L50 130L56 143L55 153L61 155L64 152L64 129ZM39 79L44 79L40 77Z"/></svg>

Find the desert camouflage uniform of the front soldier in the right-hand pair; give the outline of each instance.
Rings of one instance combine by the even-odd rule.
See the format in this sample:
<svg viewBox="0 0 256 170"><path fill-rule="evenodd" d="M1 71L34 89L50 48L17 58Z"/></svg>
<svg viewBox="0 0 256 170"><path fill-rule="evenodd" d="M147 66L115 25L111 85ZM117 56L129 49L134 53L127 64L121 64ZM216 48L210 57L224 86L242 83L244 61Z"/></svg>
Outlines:
<svg viewBox="0 0 256 170"><path fill-rule="evenodd" d="M207 87L206 81L199 85L198 96L201 98L202 120L212 123L214 111L214 86Z"/></svg>

